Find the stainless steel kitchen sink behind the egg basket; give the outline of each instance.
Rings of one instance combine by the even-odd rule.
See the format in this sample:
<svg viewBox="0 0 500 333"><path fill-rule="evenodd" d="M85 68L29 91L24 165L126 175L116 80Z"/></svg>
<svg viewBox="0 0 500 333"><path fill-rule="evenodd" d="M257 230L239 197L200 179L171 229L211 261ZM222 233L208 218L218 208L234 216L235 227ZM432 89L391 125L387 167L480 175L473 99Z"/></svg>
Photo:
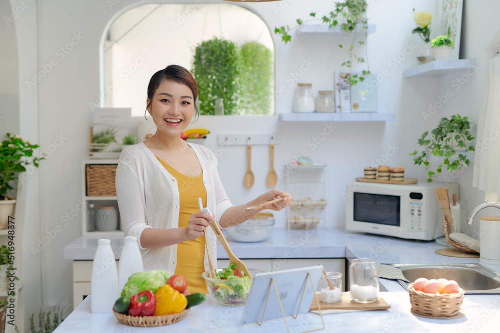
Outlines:
<svg viewBox="0 0 500 333"><path fill-rule="evenodd" d="M387 264L401 270L409 281L418 278L455 280L465 294L500 294L500 274L481 264ZM408 290L409 283L397 280Z"/></svg>

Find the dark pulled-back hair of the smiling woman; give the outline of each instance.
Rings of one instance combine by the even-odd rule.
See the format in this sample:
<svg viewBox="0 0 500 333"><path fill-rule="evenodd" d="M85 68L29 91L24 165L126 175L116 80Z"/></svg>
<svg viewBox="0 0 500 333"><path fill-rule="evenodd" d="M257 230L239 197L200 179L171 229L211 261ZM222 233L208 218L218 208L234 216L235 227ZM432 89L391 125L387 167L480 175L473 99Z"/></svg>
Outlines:
<svg viewBox="0 0 500 333"><path fill-rule="evenodd" d="M146 105L146 110L144 111L144 118L146 118L147 107L151 104L156 89L158 89L159 85L164 80L172 80L177 83L185 84L189 89L191 89L192 96L194 98L193 100L194 111L196 113L196 118L194 119L194 121L196 121L199 116L199 111L196 108L196 98L198 97L198 86L196 85L196 80L194 80L192 74L187 69L179 65L168 65L164 69L158 70L149 79L149 84L147 85L147 98L149 98L149 103Z"/></svg>

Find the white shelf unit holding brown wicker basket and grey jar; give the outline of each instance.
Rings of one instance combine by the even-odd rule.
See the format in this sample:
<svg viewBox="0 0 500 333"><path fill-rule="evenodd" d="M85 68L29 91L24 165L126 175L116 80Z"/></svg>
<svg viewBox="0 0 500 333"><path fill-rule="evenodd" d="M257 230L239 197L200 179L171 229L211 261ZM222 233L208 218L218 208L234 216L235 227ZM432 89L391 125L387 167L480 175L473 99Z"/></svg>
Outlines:
<svg viewBox="0 0 500 333"><path fill-rule="evenodd" d="M118 203L116 201L116 195L108 195L111 194L110 191L110 178L113 177L112 174L106 174L105 172L102 176L93 177L92 185L89 186L87 167L88 166L100 166L100 165L108 165L108 166L116 166L118 164L117 159L93 159L93 160L85 160L83 161L83 176L82 176L82 206L83 210L81 212L81 233L82 235L98 235L98 236L106 236L106 235L123 235L123 231L120 230L121 221L119 217L118 211ZM111 167L113 169L113 167ZM114 170L116 168L114 167ZM91 171L89 171L91 172ZM99 184L99 177L101 178L102 184ZM96 178L96 179L95 179ZM114 178L112 178L114 180ZM102 188L102 193L99 193L99 186ZM91 187L91 188L90 188ZM114 187L111 186L111 188ZM92 195L89 195L92 194ZM97 194L97 195L96 195ZM101 195L105 194L105 195ZM114 194L114 193L112 193ZM110 207L114 206L116 210L116 214L118 216L118 226L116 230L113 231L87 231L88 221L87 221L87 208L88 204L93 203L95 211L97 213L99 207ZM97 214L96 214L97 215Z"/></svg>

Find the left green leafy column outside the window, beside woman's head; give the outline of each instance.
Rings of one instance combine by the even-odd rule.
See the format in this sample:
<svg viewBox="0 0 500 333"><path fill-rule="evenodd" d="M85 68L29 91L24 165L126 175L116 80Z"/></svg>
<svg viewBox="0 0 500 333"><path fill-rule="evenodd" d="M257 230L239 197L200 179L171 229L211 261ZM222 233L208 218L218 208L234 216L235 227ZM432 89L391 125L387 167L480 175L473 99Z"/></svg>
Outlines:
<svg viewBox="0 0 500 333"><path fill-rule="evenodd" d="M240 50L232 41L214 37L198 44L191 73L198 85L200 114L213 115L215 100L224 99L224 114L237 114L241 86Z"/></svg>

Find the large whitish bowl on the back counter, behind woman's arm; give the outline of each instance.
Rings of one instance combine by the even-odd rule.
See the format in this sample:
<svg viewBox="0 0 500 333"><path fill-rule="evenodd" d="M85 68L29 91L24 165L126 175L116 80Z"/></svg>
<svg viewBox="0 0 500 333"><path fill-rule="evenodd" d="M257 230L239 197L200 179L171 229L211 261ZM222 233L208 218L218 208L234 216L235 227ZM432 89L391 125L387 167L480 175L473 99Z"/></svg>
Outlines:
<svg viewBox="0 0 500 333"><path fill-rule="evenodd" d="M251 243L265 241L269 237L273 226L274 217L257 214L255 218L225 230L235 242Z"/></svg>

